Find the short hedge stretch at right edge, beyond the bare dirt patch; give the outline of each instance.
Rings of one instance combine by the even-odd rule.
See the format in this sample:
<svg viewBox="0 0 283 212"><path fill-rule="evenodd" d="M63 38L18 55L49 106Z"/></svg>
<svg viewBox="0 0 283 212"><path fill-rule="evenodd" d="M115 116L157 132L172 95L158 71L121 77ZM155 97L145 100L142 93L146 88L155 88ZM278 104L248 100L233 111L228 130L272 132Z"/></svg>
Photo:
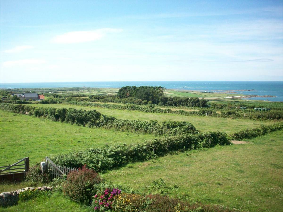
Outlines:
<svg viewBox="0 0 283 212"><path fill-rule="evenodd" d="M257 128L245 129L233 133L231 135L231 139L232 140L250 139L281 129L283 129L283 122L279 122L271 125L261 125L260 127Z"/></svg>

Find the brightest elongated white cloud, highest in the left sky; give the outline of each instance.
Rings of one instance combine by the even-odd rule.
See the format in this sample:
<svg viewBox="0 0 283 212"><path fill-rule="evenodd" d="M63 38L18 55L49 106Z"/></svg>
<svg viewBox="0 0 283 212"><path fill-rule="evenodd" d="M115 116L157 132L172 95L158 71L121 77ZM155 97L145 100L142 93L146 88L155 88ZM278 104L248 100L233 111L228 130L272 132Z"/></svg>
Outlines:
<svg viewBox="0 0 283 212"><path fill-rule="evenodd" d="M55 38L52 39L52 42L63 44L90 42L101 39L107 33L119 33L121 31L121 29L113 28L103 28L91 31L73 31L55 36Z"/></svg>

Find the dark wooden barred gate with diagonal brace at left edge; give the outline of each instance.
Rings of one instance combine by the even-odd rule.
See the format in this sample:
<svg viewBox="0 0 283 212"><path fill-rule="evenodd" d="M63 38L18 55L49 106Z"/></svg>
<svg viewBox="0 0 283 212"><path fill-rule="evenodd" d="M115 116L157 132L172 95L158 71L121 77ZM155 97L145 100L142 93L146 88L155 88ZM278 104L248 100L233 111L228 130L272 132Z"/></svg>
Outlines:
<svg viewBox="0 0 283 212"><path fill-rule="evenodd" d="M12 165L0 166L0 168L3 168L0 169L0 180L22 181L29 170L29 158L25 157Z"/></svg>

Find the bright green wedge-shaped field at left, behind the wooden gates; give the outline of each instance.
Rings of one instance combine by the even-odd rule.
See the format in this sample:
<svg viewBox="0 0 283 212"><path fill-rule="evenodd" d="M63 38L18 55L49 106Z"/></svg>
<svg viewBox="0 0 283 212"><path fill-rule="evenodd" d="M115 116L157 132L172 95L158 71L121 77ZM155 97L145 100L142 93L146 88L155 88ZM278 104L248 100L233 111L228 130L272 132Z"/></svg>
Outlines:
<svg viewBox="0 0 283 212"><path fill-rule="evenodd" d="M88 128L0 110L0 166L29 157L30 163L50 154L69 153L106 144L143 142L153 135Z"/></svg>

